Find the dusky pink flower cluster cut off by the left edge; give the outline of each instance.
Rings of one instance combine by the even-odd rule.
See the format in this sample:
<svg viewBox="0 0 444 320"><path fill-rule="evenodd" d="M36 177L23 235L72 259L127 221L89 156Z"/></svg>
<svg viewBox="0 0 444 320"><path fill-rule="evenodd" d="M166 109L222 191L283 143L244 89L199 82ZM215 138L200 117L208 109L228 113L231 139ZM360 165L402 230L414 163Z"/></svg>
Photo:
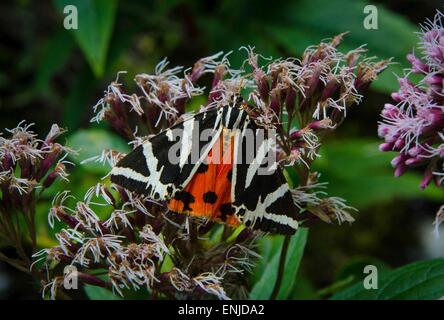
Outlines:
<svg viewBox="0 0 444 320"><path fill-rule="evenodd" d="M37 202L56 180L67 180L66 166L72 163L65 158L75 153L56 142L65 132L58 125L52 125L44 139L32 126L22 121L0 134L0 240L15 251L15 256L0 253L0 260L27 273L34 272Z"/></svg>

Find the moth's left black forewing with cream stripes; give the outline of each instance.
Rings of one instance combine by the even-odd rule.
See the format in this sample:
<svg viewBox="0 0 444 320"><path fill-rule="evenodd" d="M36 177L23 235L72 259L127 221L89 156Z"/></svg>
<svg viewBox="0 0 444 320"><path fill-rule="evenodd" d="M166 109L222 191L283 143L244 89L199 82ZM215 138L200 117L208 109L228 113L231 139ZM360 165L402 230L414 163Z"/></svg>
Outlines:
<svg viewBox="0 0 444 320"><path fill-rule="evenodd" d="M170 199L193 178L220 135L221 121L222 109L212 109L160 132L120 160L111 181L156 200Z"/></svg>

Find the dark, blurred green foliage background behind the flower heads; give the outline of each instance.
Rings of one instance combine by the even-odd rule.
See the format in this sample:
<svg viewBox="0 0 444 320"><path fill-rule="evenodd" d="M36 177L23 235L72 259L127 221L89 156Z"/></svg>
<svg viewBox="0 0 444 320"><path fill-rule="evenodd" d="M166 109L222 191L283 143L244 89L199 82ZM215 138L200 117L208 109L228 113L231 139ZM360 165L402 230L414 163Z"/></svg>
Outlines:
<svg viewBox="0 0 444 320"><path fill-rule="evenodd" d="M63 8L74 4L79 29L65 30ZM364 7L378 9L378 29L366 30ZM443 192L420 191L419 173L393 178L394 155L378 151L377 123L383 104L396 90L396 74L417 42L419 23L443 8L438 0L295 1L2 1L0 4L0 127L35 122L46 134L52 123L69 129L68 144L82 151L77 163L103 148L128 148L107 130L89 123L92 106L116 73L129 87L136 73L152 72L168 57L171 65L191 67L199 58L233 50L239 67L251 45L273 57L299 57L305 47L350 31L342 49L367 44L370 56L396 62L372 85L363 103L326 142L317 169L329 193L359 209L356 222L318 224L309 235L293 297L323 298L335 282L362 277L362 266L390 269L442 256L444 240L434 237L433 219ZM106 174L95 165L78 166L65 187L81 196ZM54 191L55 192L55 191ZM47 210L38 213L39 245L53 244ZM7 250L2 248L1 250ZM0 298L38 297L31 279L0 263Z"/></svg>

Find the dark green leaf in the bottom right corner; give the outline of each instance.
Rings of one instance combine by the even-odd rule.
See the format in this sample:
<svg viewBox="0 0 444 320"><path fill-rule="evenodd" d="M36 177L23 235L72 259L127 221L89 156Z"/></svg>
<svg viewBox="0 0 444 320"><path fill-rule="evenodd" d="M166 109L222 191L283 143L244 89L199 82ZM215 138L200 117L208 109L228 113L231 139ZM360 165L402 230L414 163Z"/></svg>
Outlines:
<svg viewBox="0 0 444 320"><path fill-rule="evenodd" d="M335 294L334 300L425 300L444 296L444 259L412 263L380 275L378 289L367 290L363 282Z"/></svg>

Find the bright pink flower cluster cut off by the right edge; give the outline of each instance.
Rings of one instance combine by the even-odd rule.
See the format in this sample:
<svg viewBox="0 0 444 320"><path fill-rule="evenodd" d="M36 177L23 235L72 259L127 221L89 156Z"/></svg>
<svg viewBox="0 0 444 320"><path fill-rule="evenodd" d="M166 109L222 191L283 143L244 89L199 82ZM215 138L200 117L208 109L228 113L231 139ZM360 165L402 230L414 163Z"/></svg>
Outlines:
<svg viewBox="0 0 444 320"><path fill-rule="evenodd" d="M393 158L395 176L409 168L424 167L420 187L432 181L438 186L444 178L444 27L443 14L422 26L420 48L422 57L409 54L411 69L398 79L399 90L392 93L394 103L382 110L383 120L378 134L385 142L381 151L396 151ZM421 80L414 83L412 74Z"/></svg>

